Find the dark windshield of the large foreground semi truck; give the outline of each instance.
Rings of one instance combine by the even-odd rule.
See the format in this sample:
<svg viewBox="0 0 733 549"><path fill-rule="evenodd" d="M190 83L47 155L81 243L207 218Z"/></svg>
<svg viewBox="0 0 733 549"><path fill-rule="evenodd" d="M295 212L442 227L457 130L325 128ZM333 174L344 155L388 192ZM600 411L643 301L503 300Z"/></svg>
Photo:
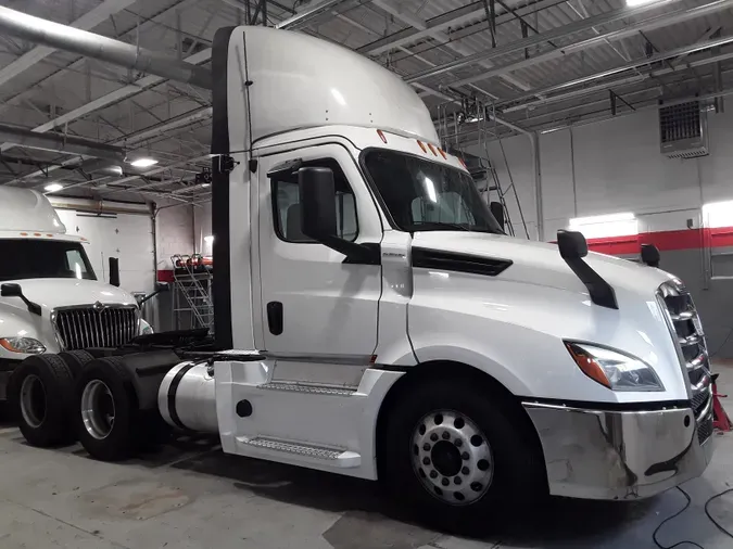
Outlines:
<svg viewBox="0 0 733 549"><path fill-rule="evenodd" d="M468 174L383 149L367 151L364 163L392 219L403 231L504 233Z"/></svg>

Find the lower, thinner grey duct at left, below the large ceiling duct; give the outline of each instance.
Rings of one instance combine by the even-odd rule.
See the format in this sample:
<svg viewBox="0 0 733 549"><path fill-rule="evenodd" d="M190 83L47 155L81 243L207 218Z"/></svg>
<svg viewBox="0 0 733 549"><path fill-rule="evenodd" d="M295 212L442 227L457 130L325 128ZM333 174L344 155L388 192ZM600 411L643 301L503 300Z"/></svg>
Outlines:
<svg viewBox="0 0 733 549"><path fill-rule="evenodd" d="M0 141L9 141L28 149L53 151L59 153L80 154L105 158L117 163L125 161L125 150L118 146L105 145L71 136L59 133L37 133L26 128L0 124Z"/></svg>

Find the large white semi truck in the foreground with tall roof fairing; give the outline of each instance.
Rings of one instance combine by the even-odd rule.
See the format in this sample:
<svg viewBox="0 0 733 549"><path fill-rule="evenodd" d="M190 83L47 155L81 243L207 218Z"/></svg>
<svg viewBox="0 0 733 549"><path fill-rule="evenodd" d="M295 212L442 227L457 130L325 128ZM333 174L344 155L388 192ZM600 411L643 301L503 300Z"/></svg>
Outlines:
<svg viewBox="0 0 733 549"><path fill-rule="evenodd" d="M710 372L681 281L579 233L506 237L418 95L352 51L232 27L212 62L215 340L89 349L73 391L54 357L16 370L54 370L46 398L92 456L129 455L162 417L228 454L383 481L450 527L703 473Z"/></svg>

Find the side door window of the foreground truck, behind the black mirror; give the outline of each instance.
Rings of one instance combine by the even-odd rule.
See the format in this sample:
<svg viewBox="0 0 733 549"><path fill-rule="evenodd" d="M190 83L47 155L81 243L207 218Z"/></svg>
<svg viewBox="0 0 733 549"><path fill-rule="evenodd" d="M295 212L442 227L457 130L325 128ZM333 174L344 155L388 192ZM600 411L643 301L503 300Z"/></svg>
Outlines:
<svg viewBox="0 0 733 549"><path fill-rule="evenodd" d="M336 233L339 238L354 242L358 234L356 218L356 199L346 180L341 166L336 161L324 159L303 163L303 166L321 166L331 168L336 193ZM274 178L273 219L275 232L286 242L309 243L314 240L303 234L301 227L301 205L299 202L298 181L290 177Z"/></svg>

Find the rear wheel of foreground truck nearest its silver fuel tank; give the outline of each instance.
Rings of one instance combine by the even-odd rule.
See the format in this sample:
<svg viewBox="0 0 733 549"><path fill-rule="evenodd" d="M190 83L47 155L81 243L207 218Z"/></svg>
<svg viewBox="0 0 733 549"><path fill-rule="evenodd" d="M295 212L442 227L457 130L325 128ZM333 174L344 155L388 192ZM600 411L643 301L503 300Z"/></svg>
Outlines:
<svg viewBox="0 0 733 549"><path fill-rule="evenodd" d="M99 358L84 368L76 381L73 419L79 442L92 457L129 457L139 446L140 418L132 380L119 358Z"/></svg>

